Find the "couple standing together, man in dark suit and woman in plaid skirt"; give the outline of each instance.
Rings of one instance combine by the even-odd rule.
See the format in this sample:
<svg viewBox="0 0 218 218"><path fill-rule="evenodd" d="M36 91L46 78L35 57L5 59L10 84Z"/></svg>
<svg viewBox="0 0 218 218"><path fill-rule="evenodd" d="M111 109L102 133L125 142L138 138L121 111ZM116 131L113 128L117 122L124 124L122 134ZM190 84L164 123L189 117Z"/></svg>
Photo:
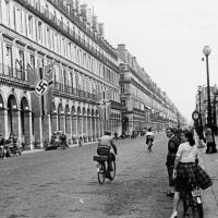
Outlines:
<svg viewBox="0 0 218 218"><path fill-rule="evenodd" d="M167 170L169 175L168 196L173 196L173 210L170 218L178 217L180 192L185 185L197 184L201 189L209 187L211 179L198 166L198 150L190 130L173 130L168 128Z"/></svg>

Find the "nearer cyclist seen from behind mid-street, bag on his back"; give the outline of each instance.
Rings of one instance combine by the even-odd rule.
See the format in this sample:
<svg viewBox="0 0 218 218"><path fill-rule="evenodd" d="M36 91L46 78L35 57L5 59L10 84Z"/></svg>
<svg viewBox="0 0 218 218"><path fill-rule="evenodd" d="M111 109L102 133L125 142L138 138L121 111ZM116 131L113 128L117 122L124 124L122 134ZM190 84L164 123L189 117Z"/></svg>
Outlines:
<svg viewBox="0 0 218 218"><path fill-rule="evenodd" d="M113 152L117 155L118 149L113 142L113 136L111 136L110 132L105 132L105 135L102 135L99 138L97 154L108 156L108 170L109 171L112 170L111 161L116 160L114 154L111 153L111 147L113 148Z"/></svg>

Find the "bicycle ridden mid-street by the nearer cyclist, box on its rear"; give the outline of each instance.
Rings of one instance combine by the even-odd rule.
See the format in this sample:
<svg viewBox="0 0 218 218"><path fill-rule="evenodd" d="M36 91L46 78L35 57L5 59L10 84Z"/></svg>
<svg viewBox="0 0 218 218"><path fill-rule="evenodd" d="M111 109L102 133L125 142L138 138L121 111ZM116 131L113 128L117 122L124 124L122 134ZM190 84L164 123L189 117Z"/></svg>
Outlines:
<svg viewBox="0 0 218 218"><path fill-rule="evenodd" d="M116 160L111 161L111 169L108 166L108 156L94 156L94 161L97 161L97 177L99 184L104 184L105 179L112 181L116 177Z"/></svg>

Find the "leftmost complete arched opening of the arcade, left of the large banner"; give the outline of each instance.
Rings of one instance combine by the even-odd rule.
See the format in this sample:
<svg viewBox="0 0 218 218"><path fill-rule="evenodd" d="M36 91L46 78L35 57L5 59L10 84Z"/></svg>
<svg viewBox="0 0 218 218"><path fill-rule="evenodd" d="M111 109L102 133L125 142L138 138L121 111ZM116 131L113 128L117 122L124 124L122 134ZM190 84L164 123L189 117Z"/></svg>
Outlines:
<svg viewBox="0 0 218 218"><path fill-rule="evenodd" d="M17 104L14 95L10 95L8 99L8 131L9 134L19 135L19 116Z"/></svg>

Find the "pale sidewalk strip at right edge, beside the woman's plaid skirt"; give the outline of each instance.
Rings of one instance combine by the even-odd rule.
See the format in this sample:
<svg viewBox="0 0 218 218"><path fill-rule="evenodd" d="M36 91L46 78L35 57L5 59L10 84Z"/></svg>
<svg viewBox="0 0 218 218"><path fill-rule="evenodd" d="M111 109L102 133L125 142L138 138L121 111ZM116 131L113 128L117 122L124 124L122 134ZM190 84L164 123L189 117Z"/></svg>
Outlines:
<svg viewBox="0 0 218 218"><path fill-rule="evenodd" d="M218 137L216 137L218 147ZM203 206L205 218L218 217L218 153L205 154L206 147L199 148L199 165L210 175L213 186L203 191Z"/></svg>

